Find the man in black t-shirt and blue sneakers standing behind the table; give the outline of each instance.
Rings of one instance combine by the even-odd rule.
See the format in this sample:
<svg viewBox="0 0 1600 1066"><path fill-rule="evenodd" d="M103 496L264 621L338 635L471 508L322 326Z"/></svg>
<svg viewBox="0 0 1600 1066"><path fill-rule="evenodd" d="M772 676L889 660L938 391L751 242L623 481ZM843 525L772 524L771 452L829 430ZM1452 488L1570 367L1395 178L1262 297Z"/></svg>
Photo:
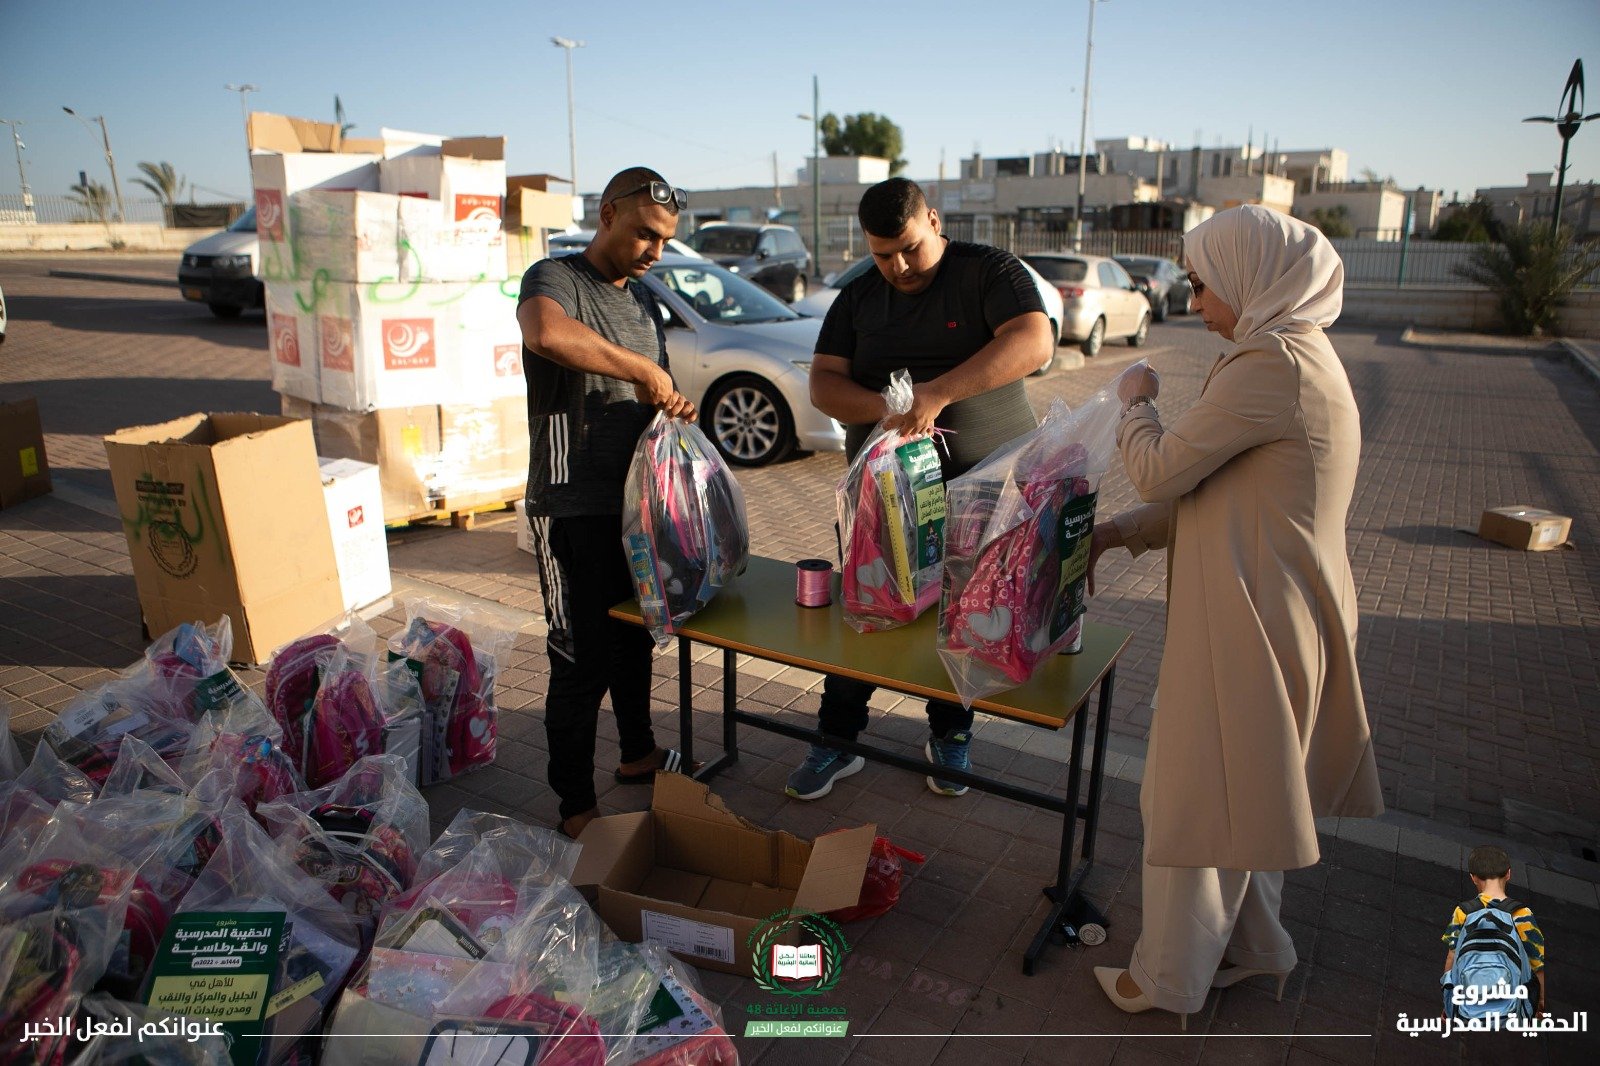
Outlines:
<svg viewBox="0 0 1600 1066"><path fill-rule="evenodd" d="M1054 336L1032 277L1008 251L952 242L939 213L914 181L890 178L861 197L858 210L877 271L840 291L822 320L811 362L811 402L845 423L845 453L854 459L882 421L906 435L950 431L941 456L946 479L965 474L1002 443L1037 426L1022 379L1051 355ZM909 370L915 400L885 418L882 389ZM872 637L862 637L870 640ZM821 730L856 739L867 727L872 685L827 677ZM966 770L973 712L928 701L928 759ZM859 755L813 744L789 775L789 795L816 799L856 773ZM928 778L941 795L966 791Z"/></svg>

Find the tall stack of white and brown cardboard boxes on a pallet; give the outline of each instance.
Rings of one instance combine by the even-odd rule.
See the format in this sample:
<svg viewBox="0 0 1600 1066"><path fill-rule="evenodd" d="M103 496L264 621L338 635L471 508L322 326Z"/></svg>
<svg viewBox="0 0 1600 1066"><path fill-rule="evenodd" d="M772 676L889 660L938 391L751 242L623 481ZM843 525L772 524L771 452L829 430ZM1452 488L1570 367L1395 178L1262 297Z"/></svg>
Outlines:
<svg viewBox="0 0 1600 1066"><path fill-rule="evenodd" d="M376 463L387 523L522 495L526 386L504 138L250 117L272 387L317 453Z"/></svg>

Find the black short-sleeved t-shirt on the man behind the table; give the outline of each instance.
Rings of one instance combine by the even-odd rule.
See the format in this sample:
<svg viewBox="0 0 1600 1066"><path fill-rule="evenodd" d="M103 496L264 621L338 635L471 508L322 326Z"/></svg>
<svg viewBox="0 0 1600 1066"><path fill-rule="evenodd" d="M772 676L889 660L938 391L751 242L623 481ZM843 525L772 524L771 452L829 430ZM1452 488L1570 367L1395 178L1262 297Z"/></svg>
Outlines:
<svg viewBox="0 0 1600 1066"><path fill-rule="evenodd" d="M896 370L909 370L914 383L933 381L971 359L1002 325L1030 311L1043 312L1045 304L1016 256L952 240L933 282L914 296L875 269L846 285L827 309L816 352L848 359L851 381L880 392ZM1022 383L1013 381L952 403L938 424L954 431L946 437L949 455L941 458L946 477L955 477L1038 421ZM872 429L845 427L850 458Z"/></svg>

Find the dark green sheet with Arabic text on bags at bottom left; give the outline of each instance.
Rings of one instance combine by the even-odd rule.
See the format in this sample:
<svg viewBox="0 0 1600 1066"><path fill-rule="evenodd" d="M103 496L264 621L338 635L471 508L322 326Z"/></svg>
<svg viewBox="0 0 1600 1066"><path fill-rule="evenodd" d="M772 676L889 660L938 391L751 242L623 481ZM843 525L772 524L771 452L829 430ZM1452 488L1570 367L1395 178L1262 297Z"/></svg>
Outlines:
<svg viewBox="0 0 1600 1066"><path fill-rule="evenodd" d="M283 924L282 911L174 916L150 964L146 1002L173 1015L219 1023L229 1034L234 1066L254 1066L266 1050L261 1023L278 968Z"/></svg>

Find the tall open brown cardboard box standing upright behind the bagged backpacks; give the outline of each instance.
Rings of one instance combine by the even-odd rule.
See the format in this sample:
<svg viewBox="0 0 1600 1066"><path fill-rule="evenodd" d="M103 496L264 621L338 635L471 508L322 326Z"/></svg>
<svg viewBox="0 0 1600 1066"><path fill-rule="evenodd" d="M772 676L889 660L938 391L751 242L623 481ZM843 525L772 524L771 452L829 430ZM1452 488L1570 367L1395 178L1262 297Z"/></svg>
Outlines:
<svg viewBox="0 0 1600 1066"><path fill-rule="evenodd" d="M190 415L106 437L150 634L234 624L234 659L344 610L310 426L277 415Z"/></svg>

